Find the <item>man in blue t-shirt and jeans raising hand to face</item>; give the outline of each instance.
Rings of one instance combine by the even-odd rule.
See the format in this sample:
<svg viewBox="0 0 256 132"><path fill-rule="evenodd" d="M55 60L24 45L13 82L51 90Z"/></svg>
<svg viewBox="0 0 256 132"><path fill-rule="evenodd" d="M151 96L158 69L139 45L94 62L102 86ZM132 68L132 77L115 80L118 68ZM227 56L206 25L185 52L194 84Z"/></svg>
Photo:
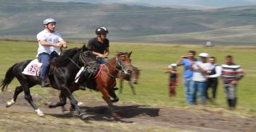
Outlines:
<svg viewBox="0 0 256 132"><path fill-rule="evenodd" d="M191 104L190 87L191 87L192 75L193 75L193 71L190 70L190 65L191 65L191 61L197 61L197 59L194 58L195 54L196 52L194 50L190 50L187 56L182 56L177 62L177 66L184 67L183 87L185 91L186 102L188 104Z"/></svg>

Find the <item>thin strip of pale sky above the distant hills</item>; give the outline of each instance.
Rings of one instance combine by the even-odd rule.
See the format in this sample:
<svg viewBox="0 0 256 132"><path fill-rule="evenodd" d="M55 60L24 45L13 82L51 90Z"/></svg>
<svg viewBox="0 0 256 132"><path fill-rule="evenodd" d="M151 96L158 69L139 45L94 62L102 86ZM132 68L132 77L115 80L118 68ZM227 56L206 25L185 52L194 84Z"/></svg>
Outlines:
<svg viewBox="0 0 256 132"><path fill-rule="evenodd" d="M256 0L45 0L53 2L122 3L145 6L205 6L230 7L253 6Z"/></svg>

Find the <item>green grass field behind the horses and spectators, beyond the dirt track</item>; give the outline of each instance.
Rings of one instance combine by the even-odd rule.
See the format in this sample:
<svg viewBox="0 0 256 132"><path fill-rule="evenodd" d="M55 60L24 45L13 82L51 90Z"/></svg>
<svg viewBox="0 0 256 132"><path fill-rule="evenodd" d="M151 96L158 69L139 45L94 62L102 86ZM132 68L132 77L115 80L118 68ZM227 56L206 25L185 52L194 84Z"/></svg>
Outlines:
<svg viewBox="0 0 256 132"><path fill-rule="evenodd" d="M6 70L16 62L28 58L35 58L37 53L37 42L11 42L0 41L0 79L4 78ZM69 48L81 47L82 42L70 42ZM256 47L255 46L214 46L205 48L194 45L175 44L143 44L143 43L110 43L110 58L114 57L116 51L133 51L132 64L141 69L141 76L136 85L138 95L132 95L129 86L126 84L122 94L119 94L120 102L134 102L139 104L156 106L187 106L182 88L182 78L177 88L177 97L170 98L167 92L168 74L164 74L166 66L177 62L178 58L186 55L188 50L196 50L209 53L215 56L219 64L224 63L226 55L234 56L234 62L238 63L245 70L245 78L238 84L238 109L241 114L256 114ZM178 67L182 76L182 66ZM9 90L14 90L18 81L14 80L9 86ZM47 96L40 86L31 89L34 94ZM84 96L84 91L78 91L75 96ZM92 93L95 98L101 99L100 93ZM226 99L223 96L222 84L218 86L217 104L210 104L206 107L210 109L226 109Z"/></svg>

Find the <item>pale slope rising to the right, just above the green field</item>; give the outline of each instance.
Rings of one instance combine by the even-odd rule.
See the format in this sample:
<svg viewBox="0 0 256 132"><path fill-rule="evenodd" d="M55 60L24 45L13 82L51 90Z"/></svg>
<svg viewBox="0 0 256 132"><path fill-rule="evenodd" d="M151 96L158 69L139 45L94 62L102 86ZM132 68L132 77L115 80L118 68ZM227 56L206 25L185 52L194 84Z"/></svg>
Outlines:
<svg viewBox="0 0 256 132"><path fill-rule="evenodd" d="M182 34L162 34L162 35L150 35L133 38L133 42L186 42L203 44L210 40L217 45L231 44L231 45L254 45L256 42L255 26L233 26L228 28L222 28L218 30L207 30L202 32L182 33Z"/></svg>

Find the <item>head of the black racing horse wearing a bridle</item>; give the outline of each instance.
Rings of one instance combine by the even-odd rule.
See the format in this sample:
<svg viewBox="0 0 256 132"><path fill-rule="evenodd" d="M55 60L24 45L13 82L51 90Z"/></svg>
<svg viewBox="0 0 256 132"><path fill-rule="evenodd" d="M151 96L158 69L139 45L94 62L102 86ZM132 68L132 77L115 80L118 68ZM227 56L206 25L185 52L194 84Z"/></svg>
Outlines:
<svg viewBox="0 0 256 132"><path fill-rule="evenodd" d="M79 62L82 63L83 66L86 66L92 73L96 73L98 71L99 66L94 54L92 51L87 50L85 46L80 50Z"/></svg>

